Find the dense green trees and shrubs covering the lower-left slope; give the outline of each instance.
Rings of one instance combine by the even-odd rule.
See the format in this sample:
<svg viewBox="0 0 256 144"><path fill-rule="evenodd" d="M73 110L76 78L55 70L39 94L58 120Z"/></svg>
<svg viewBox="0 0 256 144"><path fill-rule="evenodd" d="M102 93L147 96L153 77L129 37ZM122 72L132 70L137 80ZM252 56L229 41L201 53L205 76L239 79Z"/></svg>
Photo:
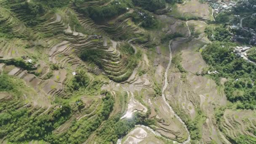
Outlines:
<svg viewBox="0 0 256 144"><path fill-rule="evenodd" d="M8 77L0 77L0 79L8 80ZM6 84L7 83L7 84ZM1 91L9 91L11 82L1 83ZM15 85L15 84L14 84ZM31 140L44 140L51 144L60 143L82 143L88 136L95 131L104 120L107 120L110 112L112 112L114 99L108 92L102 92L105 95L102 99L101 107L97 114L91 120L84 118L81 121L73 121L71 128L61 134L54 134L53 130L58 128L72 116L72 107L67 103L59 103L61 107L56 106L55 109L42 113L45 109L29 109L15 107L9 108L0 114L0 138L5 137L12 143L21 143ZM12 103L10 103L12 102ZM9 104L13 104L14 100ZM81 102L82 103L82 102ZM8 104L8 101L5 103ZM8 105L0 104L1 109L7 109ZM80 104L80 108L83 108ZM34 113L33 115L31 115ZM79 137L79 139L77 139Z"/></svg>

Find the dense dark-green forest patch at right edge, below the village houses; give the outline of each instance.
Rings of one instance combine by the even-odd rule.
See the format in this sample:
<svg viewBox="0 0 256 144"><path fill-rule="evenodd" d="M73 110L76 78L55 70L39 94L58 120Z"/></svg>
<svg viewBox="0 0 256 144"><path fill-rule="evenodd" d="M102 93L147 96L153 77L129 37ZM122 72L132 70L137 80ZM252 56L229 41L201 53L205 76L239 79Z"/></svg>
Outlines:
<svg viewBox="0 0 256 144"><path fill-rule="evenodd" d="M237 108L255 109L256 106L256 65L237 57L233 53L235 43L213 42L202 52L203 59L210 65L209 70L217 70L219 73L213 75L214 80L219 83L220 77L227 77L225 93L227 99L232 102L241 101Z"/></svg>

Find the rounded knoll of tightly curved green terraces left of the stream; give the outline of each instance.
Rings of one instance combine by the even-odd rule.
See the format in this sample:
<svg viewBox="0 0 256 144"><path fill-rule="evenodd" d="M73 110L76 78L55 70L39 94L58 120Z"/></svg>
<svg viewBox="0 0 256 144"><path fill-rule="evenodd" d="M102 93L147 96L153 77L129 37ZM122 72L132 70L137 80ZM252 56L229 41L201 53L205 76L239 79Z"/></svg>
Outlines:
<svg viewBox="0 0 256 144"><path fill-rule="evenodd" d="M133 69L135 69L138 60L141 58L141 51L137 51L135 54L135 50L128 43L123 43L118 49L121 52L120 56L114 57L112 53L107 53L106 51L89 49L83 51L80 54L80 58L84 61L94 62L106 72L111 80L122 82L127 80L133 73ZM102 59L107 59L109 61L104 61ZM122 64L115 63L117 60L113 59L122 60Z"/></svg>

